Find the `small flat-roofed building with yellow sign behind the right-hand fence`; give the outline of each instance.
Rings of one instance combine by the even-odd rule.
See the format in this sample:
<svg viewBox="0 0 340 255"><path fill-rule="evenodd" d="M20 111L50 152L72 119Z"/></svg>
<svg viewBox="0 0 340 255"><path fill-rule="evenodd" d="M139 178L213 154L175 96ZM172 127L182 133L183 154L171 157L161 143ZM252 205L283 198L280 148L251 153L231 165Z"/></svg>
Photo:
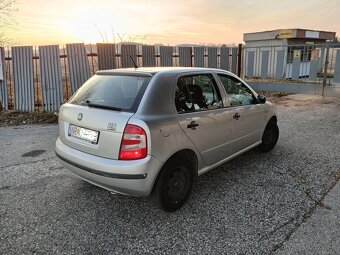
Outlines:
<svg viewBox="0 0 340 255"><path fill-rule="evenodd" d="M245 76L308 77L322 66L323 45L335 38L335 32L300 28L244 33Z"/></svg>

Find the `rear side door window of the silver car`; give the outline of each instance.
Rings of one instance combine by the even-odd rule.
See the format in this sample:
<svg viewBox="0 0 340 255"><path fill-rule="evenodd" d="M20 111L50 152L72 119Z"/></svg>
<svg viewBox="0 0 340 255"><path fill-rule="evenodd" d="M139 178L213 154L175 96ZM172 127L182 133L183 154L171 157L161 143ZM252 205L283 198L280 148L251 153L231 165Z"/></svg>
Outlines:
<svg viewBox="0 0 340 255"><path fill-rule="evenodd" d="M180 77L175 105L179 113L223 108L221 94L211 74Z"/></svg>

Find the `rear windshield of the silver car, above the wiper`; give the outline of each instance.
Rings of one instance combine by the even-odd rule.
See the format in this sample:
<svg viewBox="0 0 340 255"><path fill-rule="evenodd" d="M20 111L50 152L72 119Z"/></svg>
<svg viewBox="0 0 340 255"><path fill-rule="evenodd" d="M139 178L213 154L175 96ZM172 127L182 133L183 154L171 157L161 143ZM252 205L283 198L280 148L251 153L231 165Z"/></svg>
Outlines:
<svg viewBox="0 0 340 255"><path fill-rule="evenodd" d="M148 76L94 75L68 103L135 112L150 79Z"/></svg>

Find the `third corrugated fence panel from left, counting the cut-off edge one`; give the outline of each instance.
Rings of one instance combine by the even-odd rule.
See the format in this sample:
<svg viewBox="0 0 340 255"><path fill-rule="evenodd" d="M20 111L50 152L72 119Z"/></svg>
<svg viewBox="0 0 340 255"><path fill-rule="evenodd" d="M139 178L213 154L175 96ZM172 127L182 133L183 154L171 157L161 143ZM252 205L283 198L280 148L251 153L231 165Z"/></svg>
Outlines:
<svg viewBox="0 0 340 255"><path fill-rule="evenodd" d="M39 46L39 63L44 111L58 111L64 101L59 45Z"/></svg>

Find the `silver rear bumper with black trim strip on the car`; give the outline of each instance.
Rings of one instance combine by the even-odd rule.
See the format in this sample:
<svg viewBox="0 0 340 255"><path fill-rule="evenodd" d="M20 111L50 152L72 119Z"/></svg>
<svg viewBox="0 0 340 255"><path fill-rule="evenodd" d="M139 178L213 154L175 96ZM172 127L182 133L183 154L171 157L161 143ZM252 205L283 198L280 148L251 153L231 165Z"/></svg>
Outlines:
<svg viewBox="0 0 340 255"><path fill-rule="evenodd" d="M148 196L162 163L148 155L141 160L112 160L78 151L60 138L55 153L61 164L80 178L99 187L132 196Z"/></svg>

